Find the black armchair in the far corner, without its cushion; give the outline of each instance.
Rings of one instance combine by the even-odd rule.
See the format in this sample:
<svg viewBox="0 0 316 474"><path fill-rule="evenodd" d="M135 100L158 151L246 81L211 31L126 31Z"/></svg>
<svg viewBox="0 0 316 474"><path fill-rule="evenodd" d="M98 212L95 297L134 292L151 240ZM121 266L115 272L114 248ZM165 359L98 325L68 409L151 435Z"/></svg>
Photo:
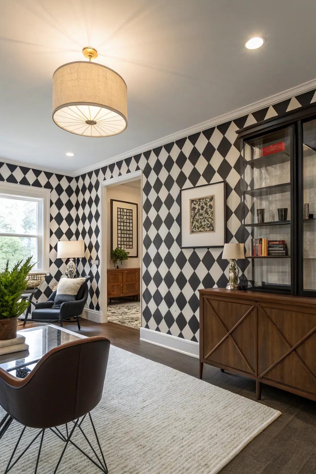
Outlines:
<svg viewBox="0 0 316 474"><path fill-rule="evenodd" d="M83 283L79 289L75 301L65 301L59 308L53 308L56 291L54 291L47 301L35 304L32 311L32 319L36 321L56 322L63 327L63 319L76 318L78 329L80 330L79 316L81 316L84 305L88 299L88 284Z"/></svg>

